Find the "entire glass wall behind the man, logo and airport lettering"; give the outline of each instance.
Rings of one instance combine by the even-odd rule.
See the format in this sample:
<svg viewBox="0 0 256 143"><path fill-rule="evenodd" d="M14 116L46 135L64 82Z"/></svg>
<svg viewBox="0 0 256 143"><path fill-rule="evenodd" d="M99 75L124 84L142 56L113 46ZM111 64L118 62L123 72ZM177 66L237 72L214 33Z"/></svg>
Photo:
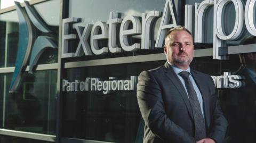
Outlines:
<svg viewBox="0 0 256 143"><path fill-rule="evenodd" d="M77 34L75 29L77 26L95 24L98 21L107 22L110 19L110 12L121 12L123 18L129 15L139 16L141 22L142 13L148 13L149 11L163 12L165 2L166 0L72 0L69 1L68 6L63 6L69 7L69 18L82 18L82 22L74 23L73 27L70 28L73 33ZM175 1L175 3L177 2L181 1ZM202 1L182 2L195 5L196 2ZM246 3L246 0L243 2ZM48 36L51 37L54 44L58 45L61 23L60 3L62 4L62 1L50 0L38 2L32 6L33 10L51 29L51 32L42 32L33 23L35 39L32 44L38 36ZM225 14L222 16L222 19L226 20L223 26L225 26L225 32L230 33L235 23L234 4L229 3L226 7L227 9L223 12ZM169 21L171 22L170 19ZM213 6L205 11L203 21L203 43L195 43L195 49L211 48L213 46ZM153 35L153 38L150 39L151 43L154 43L157 38L161 18L155 22L154 26L151 27L151 29L154 29L154 32L151 33ZM117 31L119 31L120 25L117 24ZM129 28L132 28L131 24ZM57 125L57 86L59 85L57 85L57 68L52 68L52 66L54 63L60 62L58 61L58 49L46 49L39 57L37 63L39 69L36 69L32 74L27 71L22 72L17 92L9 93L19 48L19 32L17 11L11 10L1 13L0 128L55 135L57 132L55 129ZM101 32L99 30L99 33ZM241 33L241 38L227 40L227 45L255 44L253 38L246 41L249 35L249 32L244 30ZM116 37L117 45L121 47L118 32ZM88 38L90 44L89 39L90 36ZM79 38L70 40L71 51L76 50L78 43ZM141 35L129 36L129 44L134 43L141 43ZM99 40L98 44L107 46L108 40ZM165 60L150 61L147 59L152 57L149 54L160 56L158 53L163 53L163 48L63 58L62 62L75 62L73 64L80 64L80 67L62 67L63 69L61 69L63 70L63 79L61 79L61 90L63 92L60 95L63 97L62 116L60 117L62 123L61 137L77 139L74 142L79 142L78 139L89 140L89 142L90 140L96 142L142 142L144 123L138 108L136 89L131 87L136 85L137 77L141 71L153 69L165 63ZM133 57L141 55L147 55L143 57L144 61L132 61ZM214 76L222 76L224 72L229 72L243 78L239 79L239 82L243 83L242 87L217 88L223 113L229 123L225 142L256 142L255 55L255 53L235 54L230 55L228 60L213 60L212 56L195 57L190 65L195 70ZM164 55L161 56L164 57ZM113 59L114 57L120 58ZM108 60L123 60L124 63L111 64L111 61L109 62L106 58ZM92 61L92 65L86 65L86 61L89 60L95 61ZM81 61L85 62L85 65L81 65L79 63ZM44 70L40 69L42 66L45 67L44 64L47 64L47 67ZM114 80L118 85L116 84L113 87ZM97 86L95 85L96 82ZM104 85L105 83L106 85ZM94 90L89 90L92 84L94 84ZM112 84L112 87L107 86L107 84ZM1 135L0 142L43 143L47 141Z"/></svg>

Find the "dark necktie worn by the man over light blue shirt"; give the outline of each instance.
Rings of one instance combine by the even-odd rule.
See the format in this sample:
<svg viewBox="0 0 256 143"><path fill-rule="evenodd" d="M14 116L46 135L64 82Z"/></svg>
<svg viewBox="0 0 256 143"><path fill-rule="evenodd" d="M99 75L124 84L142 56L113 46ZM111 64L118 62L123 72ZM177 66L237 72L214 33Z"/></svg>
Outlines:
<svg viewBox="0 0 256 143"><path fill-rule="evenodd" d="M179 75L185 80L185 85L188 91L189 102L193 111L195 122L195 139L201 140L206 137L205 121L196 95L196 91L189 79L189 72L182 71Z"/></svg>

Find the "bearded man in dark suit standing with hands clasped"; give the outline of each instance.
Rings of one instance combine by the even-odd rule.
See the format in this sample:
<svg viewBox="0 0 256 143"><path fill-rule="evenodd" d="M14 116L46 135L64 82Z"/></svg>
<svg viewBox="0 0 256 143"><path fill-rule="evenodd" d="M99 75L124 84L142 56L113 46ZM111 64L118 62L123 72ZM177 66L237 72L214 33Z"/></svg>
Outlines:
<svg viewBox="0 0 256 143"><path fill-rule="evenodd" d="M214 83L209 75L189 68L194 56L191 33L180 26L169 30L164 53L163 66L138 78L143 142L223 142L227 120Z"/></svg>

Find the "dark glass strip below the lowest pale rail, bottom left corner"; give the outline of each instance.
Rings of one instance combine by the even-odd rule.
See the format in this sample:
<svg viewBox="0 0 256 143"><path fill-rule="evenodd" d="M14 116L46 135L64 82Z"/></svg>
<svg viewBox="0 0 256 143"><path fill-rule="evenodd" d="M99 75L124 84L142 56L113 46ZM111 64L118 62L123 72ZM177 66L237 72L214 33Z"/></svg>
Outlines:
<svg viewBox="0 0 256 143"><path fill-rule="evenodd" d="M0 135L0 142L3 142L3 143L4 142L10 142L10 143L50 143L49 141L18 138L18 137L3 136L3 135Z"/></svg>

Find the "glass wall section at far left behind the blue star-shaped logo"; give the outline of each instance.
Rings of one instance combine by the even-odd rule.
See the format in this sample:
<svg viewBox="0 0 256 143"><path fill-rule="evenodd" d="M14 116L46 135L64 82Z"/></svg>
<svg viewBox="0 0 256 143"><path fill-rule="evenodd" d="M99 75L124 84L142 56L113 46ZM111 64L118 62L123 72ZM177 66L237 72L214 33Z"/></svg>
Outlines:
<svg viewBox="0 0 256 143"><path fill-rule="evenodd" d="M47 11L45 7L47 7ZM29 11L25 7L22 9L25 11L25 16L28 16ZM34 16L36 15L38 19L45 22L46 26L50 28L50 32L43 32L40 28L38 29L37 21L28 16L34 36L34 39L28 43L33 46L38 36L47 36L52 39L55 45L58 45L60 1L30 1L30 10ZM19 29L19 22L20 19L15 9L0 14L0 130L55 135L57 66L54 67L54 63L58 63L58 46L55 49L46 47L44 51L39 53L42 55L38 58L38 66L33 70L33 73L28 73L26 68L22 69L17 90L9 92L14 66L17 61L22 60L17 59L19 48L21 48L20 44L26 43L19 41L23 38L19 37L22 35L20 33L23 32L23 29ZM35 51L36 48L40 47L34 46L31 51ZM28 53L29 57L31 51ZM29 62L25 66L28 64ZM47 142L25 139L26 136L24 136L25 138L11 136L0 136L0 142Z"/></svg>

